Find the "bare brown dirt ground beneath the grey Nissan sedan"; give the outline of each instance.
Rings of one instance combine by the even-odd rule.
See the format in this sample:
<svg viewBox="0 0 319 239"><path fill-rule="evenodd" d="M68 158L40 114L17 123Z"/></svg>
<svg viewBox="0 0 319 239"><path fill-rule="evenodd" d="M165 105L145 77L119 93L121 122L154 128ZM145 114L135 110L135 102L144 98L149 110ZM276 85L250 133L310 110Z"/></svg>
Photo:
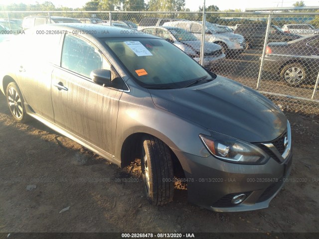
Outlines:
<svg viewBox="0 0 319 239"><path fill-rule="evenodd" d="M286 115L291 182L268 209L215 213L187 203L186 190L149 205L138 166L120 169L36 120L13 121L1 95L0 232L319 232L319 118Z"/></svg>

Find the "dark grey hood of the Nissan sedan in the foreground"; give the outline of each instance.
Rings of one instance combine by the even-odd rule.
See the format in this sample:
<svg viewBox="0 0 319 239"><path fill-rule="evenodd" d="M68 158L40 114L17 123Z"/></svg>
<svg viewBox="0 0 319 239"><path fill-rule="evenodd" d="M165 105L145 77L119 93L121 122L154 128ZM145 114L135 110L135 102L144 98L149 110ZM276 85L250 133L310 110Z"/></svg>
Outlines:
<svg viewBox="0 0 319 239"><path fill-rule="evenodd" d="M157 107L247 142L269 142L287 128L287 118L270 100L221 76L194 87L149 91Z"/></svg>

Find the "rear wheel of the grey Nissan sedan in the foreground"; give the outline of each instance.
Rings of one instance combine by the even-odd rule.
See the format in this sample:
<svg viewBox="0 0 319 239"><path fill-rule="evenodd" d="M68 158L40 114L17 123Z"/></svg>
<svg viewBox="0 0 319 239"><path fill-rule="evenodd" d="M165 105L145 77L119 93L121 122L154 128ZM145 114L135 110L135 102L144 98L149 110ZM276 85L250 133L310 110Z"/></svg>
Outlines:
<svg viewBox="0 0 319 239"><path fill-rule="evenodd" d="M15 82L8 84L5 96L13 118L19 122L26 122L29 116L25 112L24 100Z"/></svg>

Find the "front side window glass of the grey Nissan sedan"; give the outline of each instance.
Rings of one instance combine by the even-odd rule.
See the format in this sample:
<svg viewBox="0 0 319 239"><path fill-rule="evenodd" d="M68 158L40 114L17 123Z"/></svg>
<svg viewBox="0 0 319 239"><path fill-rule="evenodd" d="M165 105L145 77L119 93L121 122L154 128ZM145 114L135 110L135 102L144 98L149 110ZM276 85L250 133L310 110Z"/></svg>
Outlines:
<svg viewBox="0 0 319 239"><path fill-rule="evenodd" d="M66 34L62 49L61 67L90 77L93 70L108 69L103 64L102 54L89 42Z"/></svg>

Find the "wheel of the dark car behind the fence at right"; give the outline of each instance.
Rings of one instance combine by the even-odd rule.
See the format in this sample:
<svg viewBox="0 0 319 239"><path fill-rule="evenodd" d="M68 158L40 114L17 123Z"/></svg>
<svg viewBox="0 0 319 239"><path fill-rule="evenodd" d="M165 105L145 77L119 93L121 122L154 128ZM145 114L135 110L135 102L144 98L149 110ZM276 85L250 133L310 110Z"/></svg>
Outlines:
<svg viewBox="0 0 319 239"><path fill-rule="evenodd" d="M281 73L281 79L289 86L297 87L302 85L307 79L307 68L298 63L291 63L286 65Z"/></svg>

